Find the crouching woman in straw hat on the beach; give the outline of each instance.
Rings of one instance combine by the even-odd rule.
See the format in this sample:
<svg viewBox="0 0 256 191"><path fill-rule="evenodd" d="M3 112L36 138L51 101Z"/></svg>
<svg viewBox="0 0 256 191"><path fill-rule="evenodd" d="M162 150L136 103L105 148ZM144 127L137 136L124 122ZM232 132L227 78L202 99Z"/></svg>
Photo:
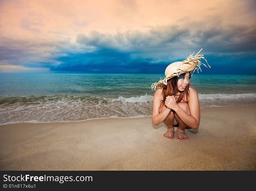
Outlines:
<svg viewBox="0 0 256 191"><path fill-rule="evenodd" d="M187 140L185 128L198 129L199 127L198 94L194 88L189 86L193 72L196 69L199 70L200 65L203 64L200 59L205 59L204 55L198 55L198 53L195 56L190 55L182 62L170 64L165 70L166 77L160 78L158 83L153 83L151 86L152 90L158 87L153 98L152 121L154 125L161 122L166 124L168 129L163 134L165 138L173 139L174 126L177 126L176 140Z"/></svg>

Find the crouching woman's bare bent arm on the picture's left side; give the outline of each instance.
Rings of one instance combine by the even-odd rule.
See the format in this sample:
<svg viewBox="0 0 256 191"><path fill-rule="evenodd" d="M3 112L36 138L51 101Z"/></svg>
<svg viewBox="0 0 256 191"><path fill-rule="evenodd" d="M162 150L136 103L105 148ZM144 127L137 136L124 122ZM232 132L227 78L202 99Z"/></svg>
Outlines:
<svg viewBox="0 0 256 191"><path fill-rule="evenodd" d="M152 121L154 125L158 125L163 122L167 116L169 115L171 109L166 108L159 114L159 108L161 106L161 99L162 99L162 90L157 89L154 93L153 98L153 113L152 113Z"/></svg>

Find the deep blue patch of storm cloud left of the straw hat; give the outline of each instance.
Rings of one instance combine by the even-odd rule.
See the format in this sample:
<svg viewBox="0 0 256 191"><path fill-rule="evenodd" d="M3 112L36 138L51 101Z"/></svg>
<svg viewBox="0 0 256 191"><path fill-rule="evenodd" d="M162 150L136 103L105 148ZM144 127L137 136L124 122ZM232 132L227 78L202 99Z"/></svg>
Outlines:
<svg viewBox="0 0 256 191"><path fill-rule="evenodd" d="M51 67L51 70L89 72L89 73L152 73L162 71L149 66L150 60L131 59L129 53L111 50L101 50L95 53L76 54L62 57L61 65Z"/></svg>

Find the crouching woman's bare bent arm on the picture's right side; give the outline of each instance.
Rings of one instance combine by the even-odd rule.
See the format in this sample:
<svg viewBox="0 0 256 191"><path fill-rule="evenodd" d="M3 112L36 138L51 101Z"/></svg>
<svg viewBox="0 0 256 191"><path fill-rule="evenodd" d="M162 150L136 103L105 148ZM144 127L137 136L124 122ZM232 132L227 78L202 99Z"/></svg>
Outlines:
<svg viewBox="0 0 256 191"><path fill-rule="evenodd" d="M172 108L179 118L189 127L193 129L198 129L200 123L200 106L199 106L199 99L198 94L194 88L189 88L190 95L189 95L189 110L190 115L187 114L182 108L176 105Z"/></svg>

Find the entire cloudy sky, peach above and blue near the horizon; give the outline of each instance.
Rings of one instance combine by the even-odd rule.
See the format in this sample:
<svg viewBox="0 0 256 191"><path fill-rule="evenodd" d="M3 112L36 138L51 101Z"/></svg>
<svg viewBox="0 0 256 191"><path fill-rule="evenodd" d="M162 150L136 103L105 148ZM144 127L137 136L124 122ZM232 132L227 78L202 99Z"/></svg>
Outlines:
<svg viewBox="0 0 256 191"><path fill-rule="evenodd" d="M0 0L0 73L256 75L256 1ZM202 61L202 60L201 60Z"/></svg>

